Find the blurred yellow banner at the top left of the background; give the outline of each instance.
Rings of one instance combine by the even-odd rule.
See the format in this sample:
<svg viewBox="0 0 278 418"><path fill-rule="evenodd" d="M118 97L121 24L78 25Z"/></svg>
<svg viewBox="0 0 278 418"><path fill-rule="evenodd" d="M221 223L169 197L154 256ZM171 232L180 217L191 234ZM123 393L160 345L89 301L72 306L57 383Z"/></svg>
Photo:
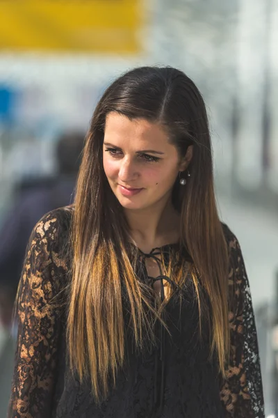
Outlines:
<svg viewBox="0 0 278 418"><path fill-rule="evenodd" d="M140 0L0 0L0 49L139 52Z"/></svg>

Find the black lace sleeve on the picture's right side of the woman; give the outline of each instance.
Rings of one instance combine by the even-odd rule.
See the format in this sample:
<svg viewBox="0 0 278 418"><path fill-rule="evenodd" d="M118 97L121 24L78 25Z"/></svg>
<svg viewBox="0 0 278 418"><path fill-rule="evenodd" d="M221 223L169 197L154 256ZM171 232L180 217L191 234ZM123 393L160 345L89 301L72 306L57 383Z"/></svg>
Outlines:
<svg viewBox="0 0 278 418"><path fill-rule="evenodd" d="M229 231L230 361L220 397L227 418L263 418L263 388L250 286L236 237Z"/></svg>

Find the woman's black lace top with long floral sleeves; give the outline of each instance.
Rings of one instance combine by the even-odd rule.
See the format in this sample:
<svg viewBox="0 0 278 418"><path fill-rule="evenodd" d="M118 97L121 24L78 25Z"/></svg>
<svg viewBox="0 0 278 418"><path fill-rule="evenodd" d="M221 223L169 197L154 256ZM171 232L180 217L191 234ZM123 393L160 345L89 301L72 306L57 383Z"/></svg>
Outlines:
<svg viewBox="0 0 278 418"><path fill-rule="evenodd" d="M263 418L250 287L240 246L227 226L223 228L229 245L233 308L229 312L231 350L225 379L218 375L215 357L208 360L206 327L202 341L199 339L194 286L187 281L165 308L170 335L158 325L157 346L140 354L126 339L126 363L117 376L116 388L97 407L89 382L81 384L72 377L67 361L61 291L69 276L65 248L71 217L70 207L44 215L28 244L19 284L19 332L8 417Z"/></svg>

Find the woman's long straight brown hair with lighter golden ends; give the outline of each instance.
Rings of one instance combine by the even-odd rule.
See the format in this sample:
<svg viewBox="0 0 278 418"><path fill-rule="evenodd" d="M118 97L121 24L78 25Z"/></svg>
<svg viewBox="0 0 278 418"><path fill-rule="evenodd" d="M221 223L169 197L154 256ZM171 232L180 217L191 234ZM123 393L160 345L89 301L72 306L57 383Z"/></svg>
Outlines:
<svg viewBox="0 0 278 418"><path fill-rule="evenodd" d="M145 287L136 280L128 251L129 230L120 203L106 179L102 147L106 116L116 111L128 118L161 123L170 141L185 155L193 145L190 181L173 188L173 202L181 214L181 245L193 263L199 312L207 311L199 289L211 305L211 355L218 354L220 371L229 352L228 255L213 190L211 138L206 108L197 87L174 68L142 67L122 75L107 88L97 104L83 151L72 223L73 271L67 338L72 370L82 380L88 374L99 400L108 394L124 362L124 307L137 348L154 341L159 319ZM183 265L175 277L183 274ZM152 315L149 315L151 312Z"/></svg>

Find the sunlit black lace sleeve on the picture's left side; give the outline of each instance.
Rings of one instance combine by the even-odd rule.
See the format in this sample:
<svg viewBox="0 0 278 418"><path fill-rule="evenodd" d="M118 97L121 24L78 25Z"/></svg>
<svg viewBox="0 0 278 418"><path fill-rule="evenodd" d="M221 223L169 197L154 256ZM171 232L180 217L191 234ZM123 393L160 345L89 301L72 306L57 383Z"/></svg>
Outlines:
<svg viewBox="0 0 278 418"><path fill-rule="evenodd" d="M57 218L49 212L33 229L19 282L18 336L8 418L49 418L60 330ZM55 297L56 296L56 297Z"/></svg>

